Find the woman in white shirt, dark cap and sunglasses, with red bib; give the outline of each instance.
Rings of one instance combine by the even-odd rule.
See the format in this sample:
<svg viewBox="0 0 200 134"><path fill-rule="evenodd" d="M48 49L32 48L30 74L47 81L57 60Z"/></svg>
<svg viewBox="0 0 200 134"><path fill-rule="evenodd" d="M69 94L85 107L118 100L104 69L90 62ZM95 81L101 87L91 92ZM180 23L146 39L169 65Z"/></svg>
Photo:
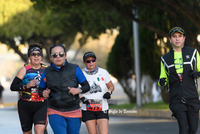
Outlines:
<svg viewBox="0 0 200 134"><path fill-rule="evenodd" d="M83 55L84 75L90 84L90 91L81 96L82 121L85 122L89 134L108 134L108 102L114 91L109 73L96 66L96 55L86 52Z"/></svg>

